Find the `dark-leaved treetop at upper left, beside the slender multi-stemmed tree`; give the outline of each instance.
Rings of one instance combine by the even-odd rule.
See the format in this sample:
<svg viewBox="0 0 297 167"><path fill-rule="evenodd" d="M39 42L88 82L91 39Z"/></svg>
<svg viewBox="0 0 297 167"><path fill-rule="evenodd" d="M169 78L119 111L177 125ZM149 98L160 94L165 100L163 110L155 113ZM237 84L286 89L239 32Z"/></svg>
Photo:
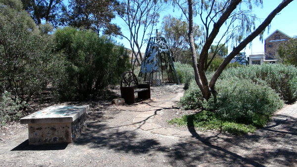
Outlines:
<svg viewBox="0 0 297 167"><path fill-rule="evenodd" d="M69 0L66 25L94 30L97 34L118 35L120 28L111 23L117 0Z"/></svg>

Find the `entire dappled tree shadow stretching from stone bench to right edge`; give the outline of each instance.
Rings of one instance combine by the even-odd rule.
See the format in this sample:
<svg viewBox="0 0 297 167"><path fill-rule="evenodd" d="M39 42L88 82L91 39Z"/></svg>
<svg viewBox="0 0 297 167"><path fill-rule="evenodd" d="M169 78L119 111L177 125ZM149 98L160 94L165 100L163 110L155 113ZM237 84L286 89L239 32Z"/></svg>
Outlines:
<svg viewBox="0 0 297 167"><path fill-rule="evenodd" d="M158 108L154 115L166 109ZM74 144L134 155L161 154L168 158L166 161L171 166L294 166L297 163L296 123L296 118L276 115L254 134L234 136L221 133L204 135L193 128L193 120L188 120L192 137L180 138L176 144L165 146L157 139L144 137L135 129L122 128L130 125L112 127L101 121L89 123Z"/></svg>

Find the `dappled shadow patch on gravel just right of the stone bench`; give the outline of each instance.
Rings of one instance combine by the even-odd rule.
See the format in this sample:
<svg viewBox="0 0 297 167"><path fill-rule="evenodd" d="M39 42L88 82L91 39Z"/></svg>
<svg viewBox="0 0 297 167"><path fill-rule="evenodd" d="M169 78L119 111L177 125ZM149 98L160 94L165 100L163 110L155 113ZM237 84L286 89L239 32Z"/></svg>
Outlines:
<svg viewBox="0 0 297 167"><path fill-rule="evenodd" d="M105 124L90 123L85 132L75 140L75 144L91 148L106 147L118 152L144 154L160 143L155 139L141 139L136 131L110 128Z"/></svg>

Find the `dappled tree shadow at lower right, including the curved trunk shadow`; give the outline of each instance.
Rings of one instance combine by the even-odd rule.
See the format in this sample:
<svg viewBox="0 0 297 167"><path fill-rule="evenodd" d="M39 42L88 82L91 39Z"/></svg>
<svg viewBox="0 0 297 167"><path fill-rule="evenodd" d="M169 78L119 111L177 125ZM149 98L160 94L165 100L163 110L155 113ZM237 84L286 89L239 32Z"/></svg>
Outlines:
<svg viewBox="0 0 297 167"><path fill-rule="evenodd" d="M294 166L297 163L296 125L296 118L277 115L255 134L221 138L198 134L193 120L188 120L192 139L175 144L167 156L172 166Z"/></svg>

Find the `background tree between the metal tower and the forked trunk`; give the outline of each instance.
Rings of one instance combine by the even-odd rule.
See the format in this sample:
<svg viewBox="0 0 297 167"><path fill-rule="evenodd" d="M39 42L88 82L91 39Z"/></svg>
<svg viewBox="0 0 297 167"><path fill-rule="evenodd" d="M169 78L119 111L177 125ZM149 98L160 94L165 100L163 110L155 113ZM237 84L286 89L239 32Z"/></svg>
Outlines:
<svg viewBox="0 0 297 167"><path fill-rule="evenodd" d="M169 47L170 53L172 55L173 61L181 59L184 50L190 48L188 41L188 27L187 21L181 18L176 18L171 15L164 16L162 21L162 35L167 40L167 45ZM194 26L194 38L195 41L201 39L201 30L198 25Z"/></svg>

